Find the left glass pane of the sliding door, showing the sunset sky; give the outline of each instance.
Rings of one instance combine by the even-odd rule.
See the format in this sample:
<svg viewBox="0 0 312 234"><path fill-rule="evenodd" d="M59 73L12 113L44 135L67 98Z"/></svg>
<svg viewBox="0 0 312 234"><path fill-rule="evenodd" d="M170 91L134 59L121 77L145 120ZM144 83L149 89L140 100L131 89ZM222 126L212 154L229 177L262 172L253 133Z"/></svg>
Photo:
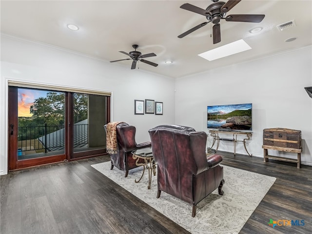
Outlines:
<svg viewBox="0 0 312 234"><path fill-rule="evenodd" d="M18 160L64 154L65 94L18 88Z"/></svg>

